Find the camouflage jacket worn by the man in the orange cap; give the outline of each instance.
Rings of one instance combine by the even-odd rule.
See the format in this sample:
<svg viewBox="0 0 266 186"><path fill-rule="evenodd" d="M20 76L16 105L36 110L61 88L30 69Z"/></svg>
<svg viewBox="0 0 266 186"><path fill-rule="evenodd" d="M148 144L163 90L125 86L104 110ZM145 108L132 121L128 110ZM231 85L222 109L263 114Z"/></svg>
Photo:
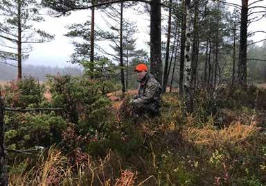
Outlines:
<svg viewBox="0 0 266 186"><path fill-rule="evenodd" d="M144 80L139 84L138 98L134 103L160 105L161 101L161 85L150 73L147 73Z"/></svg>

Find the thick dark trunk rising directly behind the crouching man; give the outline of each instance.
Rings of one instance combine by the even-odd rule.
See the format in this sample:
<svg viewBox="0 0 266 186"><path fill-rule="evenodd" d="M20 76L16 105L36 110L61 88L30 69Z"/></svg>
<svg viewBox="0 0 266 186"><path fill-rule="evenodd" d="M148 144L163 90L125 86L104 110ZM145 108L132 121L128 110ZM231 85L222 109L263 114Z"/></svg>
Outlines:
<svg viewBox="0 0 266 186"><path fill-rule="evenodd" d="M150 72L161 83L161 6L150 1Z"/></svg>

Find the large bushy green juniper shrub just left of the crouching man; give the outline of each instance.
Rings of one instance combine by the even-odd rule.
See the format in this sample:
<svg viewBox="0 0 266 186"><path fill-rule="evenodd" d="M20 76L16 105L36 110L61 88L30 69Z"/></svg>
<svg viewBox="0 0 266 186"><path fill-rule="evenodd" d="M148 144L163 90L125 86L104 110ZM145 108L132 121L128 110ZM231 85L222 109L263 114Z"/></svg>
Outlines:
<svg viewBox="0 0 266 186"><path fill-rule="evenodd" d="M79 133L103 130L109 124L111 102L99 87L98 81L71 76L49 76L51 105L63 108L60 115L76 124Z"/></svg>

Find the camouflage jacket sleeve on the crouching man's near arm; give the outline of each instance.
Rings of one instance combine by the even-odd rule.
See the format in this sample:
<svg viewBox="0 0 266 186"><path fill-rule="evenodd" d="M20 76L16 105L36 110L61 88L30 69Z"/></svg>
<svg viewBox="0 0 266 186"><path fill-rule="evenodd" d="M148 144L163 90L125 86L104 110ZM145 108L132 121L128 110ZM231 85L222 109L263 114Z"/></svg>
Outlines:
<svg viewBox="0 0 266 186"><path fill-rule="evenodd" d="M144 94L134 100L134 103L148 104L153 101L159 100L159 94L161 93L161 87L157 83L149 83L145 88Z"/></svg>

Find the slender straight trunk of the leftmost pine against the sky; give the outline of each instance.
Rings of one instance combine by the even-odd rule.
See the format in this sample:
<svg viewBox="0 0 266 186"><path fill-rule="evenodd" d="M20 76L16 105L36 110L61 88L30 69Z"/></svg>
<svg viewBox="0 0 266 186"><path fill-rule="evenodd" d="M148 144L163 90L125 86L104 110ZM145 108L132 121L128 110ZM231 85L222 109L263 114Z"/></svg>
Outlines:
<svg viewBox="0 0 266 186"><path fill-rule="evenodd" d="M22 50L21 50L21 1L17 1L17 79L22 78Z"/></svg>

